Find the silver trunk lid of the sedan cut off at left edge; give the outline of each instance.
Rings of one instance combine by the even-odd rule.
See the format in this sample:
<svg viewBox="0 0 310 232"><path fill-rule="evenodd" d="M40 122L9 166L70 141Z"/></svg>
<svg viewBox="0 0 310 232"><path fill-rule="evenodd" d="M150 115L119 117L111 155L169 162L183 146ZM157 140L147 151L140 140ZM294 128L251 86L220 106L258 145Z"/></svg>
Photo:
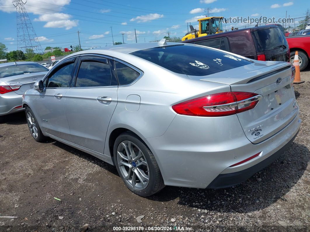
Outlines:
<svg viewBox="0 0 310 232"><path fill-rule="evenodd" d="M47 72L33 72L12 77L3 77L0 80L7 85L20 85L20 88L14 92L21 95L27 90L33 88L33 84L36 81L42 80L46 74Z"/></svg>

